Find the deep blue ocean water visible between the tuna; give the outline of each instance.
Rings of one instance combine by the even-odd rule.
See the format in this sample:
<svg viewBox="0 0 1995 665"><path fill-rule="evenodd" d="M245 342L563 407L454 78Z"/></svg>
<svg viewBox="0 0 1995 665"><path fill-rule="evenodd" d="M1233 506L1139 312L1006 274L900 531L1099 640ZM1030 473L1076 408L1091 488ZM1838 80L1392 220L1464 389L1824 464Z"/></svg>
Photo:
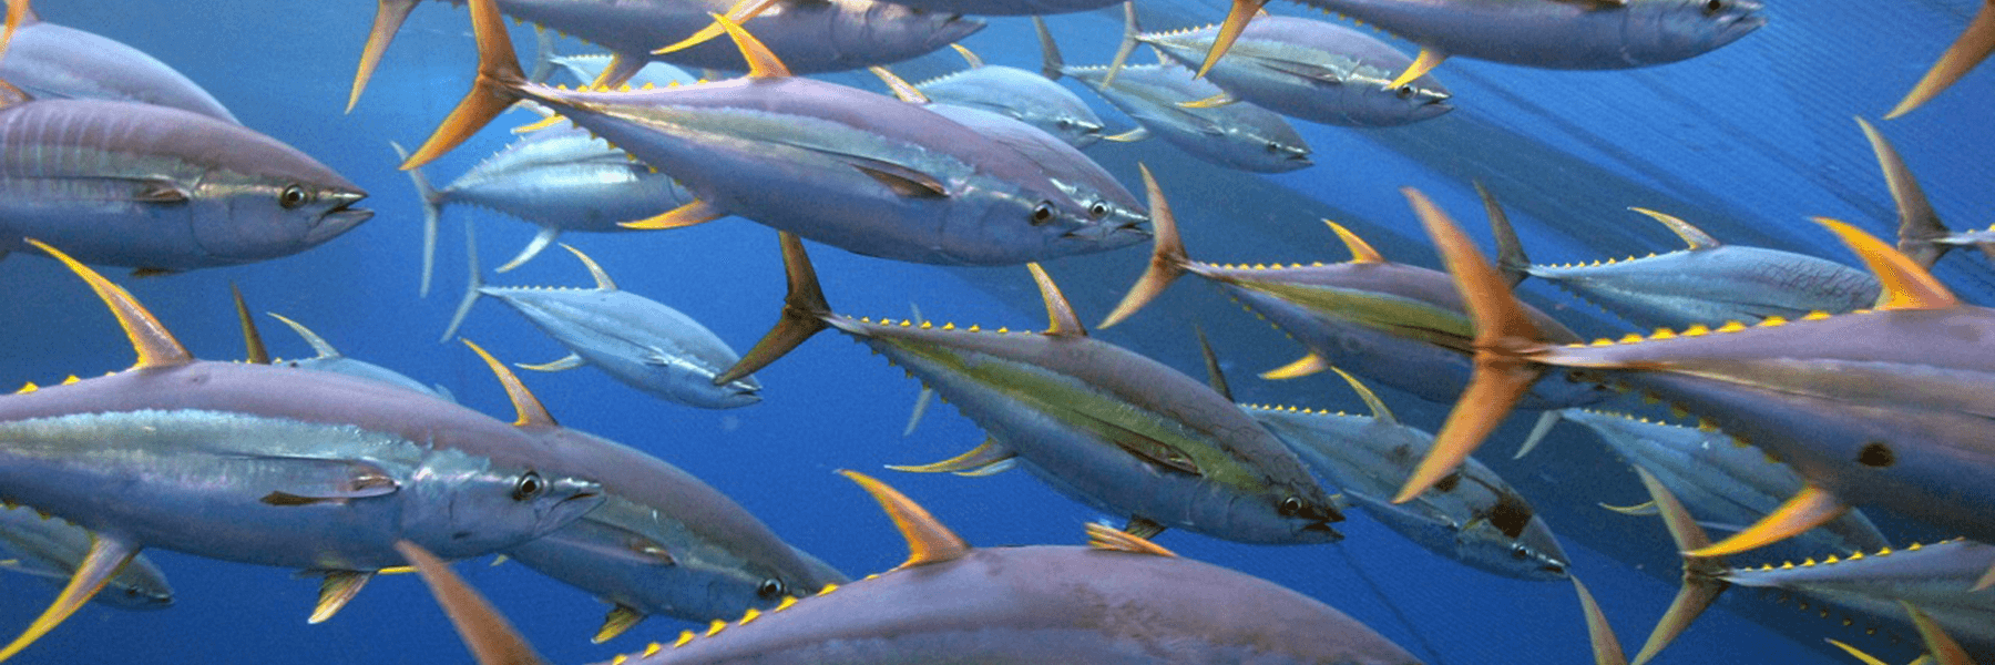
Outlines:
<svg viewBox="0 0 1995 665"><path fill-rule="evenodd" d="M1193 258L1227 262L1343 260L1319 224L1355 228L1389 258L1436 266L1398 188L1416 186L1474 234L1480 208L1470 178L1488 182L1510 208L1538 262L1594 260L1668 250L1676 240L1624 212L1644 206L1702 226L1726 242L1811 252L1849 262L1829 234L1805 222L1833 216L1887 234L1891 204L1851 116L1875 120L1953 40L1973 0L1774 2L1770 24L1714 54L1634 72L1542 72L1454 60L1436 76L1454 90L1456 112L1396 130L1345 130L1297 122L1317 166L1249 176L1189 160L1169 146L1089 148L1135 186L1149 164L1183 224ZM313 154L365 188L373 222L313 252L255 266L184 276L116 280L150 306L200 357L239 357L227 304L239 284L251 308L291 316L347 355L447 385L461 401L507 417L483 363L437 343L463 286L461 224L477 220L485 266L505 260L533 230L489 212L451 210L443 226L439 286L417 298L419 208L395 172L389 140L421 142L459 100L473 70L461 8L417 8L383 58L367 96L341 114L359 44L371 20L365 2L62 2L36 8L50 22L92 30L146 50L213 92L243 124ZM1293 4L1273 6L1299 14ZM1215 0L1143 4L1147 28L1177 28L1223 16ZM1115 12L1053 18L1069 64L1109 58ZM519 30L521 40L527 38ZM523 42L525 44L525 42ZM992 20L966 40L988 62L1037 66L1023 20ZM583 52L575 40L563 52ZM910 80L950 72L954 56L900 66ZM1921 176L1933 206L1955 228L1981 226L1991 210L1995 102L1987 70L1903 120L1881 124ZM832 76L880 90L870 78ZM1085 96L1085 94L1083 94ZM1105 104L1097 106L1111 122ZM501 120L507 124L509 120ZM511 124L523 124L511 120ZM429 166L449 182L499 150L491 128ZM724 220L682 232L565 238L591 252L630 292L680 308L746 349L774 320L782 274L774 234ZM1029 328L1043 312L1023 268L908 266L812 248L824 292L840 312L902 318L910 304L936 322ZM1939 276L1975 304L1991 302L1991 272L1979 256L1949 256ZM1051 262L1047 270L1093 322L1145 264L1131 248ZM505 286L583 286L587 274L561 252L505 276ZM1189 280L1187 280L1189 282ZM130 365L132 351L104 308L54 262L0 262L0 381L58 381ZM1548 288L1528 290L1582 333L1624 326ZM1279 332L1223 302L1211 288L1181 284L1125 326L1097 332L1185 371L1197 349L1185 322L1215 337L1243 401L1359 409L1335 377L1269 383L1253 371L1301 353ZM481 304L463 330L507 361L563 355L519 316ZM279 328L265 337L281 355L309 349ZM824 335L758 373L764 401L702 411L656 401L579 369L525 379L571 427L642 447L732 495L776 533L848 575L884 571L906 555L874 503L834 469L880 471L884 463L942 459L982 441L952 407L938 405L902 437L918 383L836 335ZM1383 391L1400 419L1434 427L1444 405ZM1546 451L1510 461L1522 425L1506 427L1480 459L1534 501L1562 537L1574 573L1600 597L1630 651L1668 605L1676 563L1660 523L1622 517L1596 503L1638 503L1642 489L1624 463L1578 427L1560 429ZM888 473L888 471L880 471ZM1099 519L1023 473L996 477L884 475L976 545L1079 543ZM1895 541L1943 533L1881 517ZM1331 603L1398 641L1428 663L1588 661L1580 609L1566 583L1492 577L1438 559L1361 513L1339 529L1341 545L1253 547L1191 533L1159 543ZM339 617L305 625L317 581L291 571L150 551L174 581L166 611L86 607L16 663L463 663L469 661L415 577L375 579ZM459 563L471 583L555 663L602 661L680 625L650 619L606 645L591 645L606 605L517 563ZM26 627L54 587L0 575L0 633ZM1267 617L1281 621L1281 617ZM1861 627L1863 621L1859 619ZM1847 663L1823 637L1857 643L1887 661L1911 659L1891 635L1867 637L1734 591L1658 663Z"/></svg>

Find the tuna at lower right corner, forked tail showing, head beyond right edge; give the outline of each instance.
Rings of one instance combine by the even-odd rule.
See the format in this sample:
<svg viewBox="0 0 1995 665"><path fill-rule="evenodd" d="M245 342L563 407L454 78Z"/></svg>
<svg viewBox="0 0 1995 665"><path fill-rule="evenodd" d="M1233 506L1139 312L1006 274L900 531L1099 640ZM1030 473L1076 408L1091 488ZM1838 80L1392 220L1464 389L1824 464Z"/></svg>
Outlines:
<svg viewBox="0 0 1995 665"><path fill-rule="evenodd" d="M1684 633L1728 587L1782 589L1805 595L1813 601L1885 619L1901 627L1915 627L1921 635L1939 635L1959 653L1953 643L1959 635L1969 651L1979 659L1995 655L1995 597L1979 583L1995 569L1995 545L1967 539L1949 539L1931 545L1913 543L1907 547L1881 547L1827 555L1780 565L1728 567L1724 557L1688 555L1710 545L1710 537L1690 517L1682 501L1648 471L1638 471L1656 507L1670 525L1670 537L1684 557L1684 589L1670 603L1670 611L1658 621L1656 631L1636 663L1646 663L1662 653L1670 641ZM1911 611L1911 619L1901 617ZM1823 609L1823 615L1827 609ZM1965 659L1943 663L1967 663Z"/></svg>

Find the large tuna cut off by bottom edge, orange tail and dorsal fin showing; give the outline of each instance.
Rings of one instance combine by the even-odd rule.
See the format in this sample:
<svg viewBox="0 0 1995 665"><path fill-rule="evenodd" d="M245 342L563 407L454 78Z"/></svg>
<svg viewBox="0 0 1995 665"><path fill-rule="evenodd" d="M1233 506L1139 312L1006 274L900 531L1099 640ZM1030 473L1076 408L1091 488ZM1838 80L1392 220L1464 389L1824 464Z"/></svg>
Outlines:
<svg viewBox="0 0 1995 665"><path fill-rule="evenodd" d="M840 473L866 487L900 527L906 563L614 661L1418 663L1321 601L1141 537L1089 525L1087 547L970 547L886 483ZM415 545L403 549L479 663L543 663L443 561Z"/></svg>

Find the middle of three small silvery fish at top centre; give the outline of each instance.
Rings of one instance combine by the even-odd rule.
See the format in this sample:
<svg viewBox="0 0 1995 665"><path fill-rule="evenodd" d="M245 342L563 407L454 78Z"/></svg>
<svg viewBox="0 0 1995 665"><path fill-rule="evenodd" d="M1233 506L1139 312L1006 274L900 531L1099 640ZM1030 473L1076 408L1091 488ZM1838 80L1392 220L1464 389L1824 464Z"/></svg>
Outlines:
<svg viewBox="0 0 1995 665"><path fill-rule="evenodd" d="M1067 66L1045 22L1033 18L1033 24L1039 30L1045 78L1073 76L1139 124L1131 132L1105 136L1111 142L1139 142L1157 136L1201 162L1253 174L1283 174L1315 164L1309 160L1309 144L1303 142L1303 134L1295 132L1281 114L1253 104L1183 106L1223 90L1193 78L1191 70L1163 56L1157 56L1157 64L1151 66L1123 66L1119 70Z"/></svg>

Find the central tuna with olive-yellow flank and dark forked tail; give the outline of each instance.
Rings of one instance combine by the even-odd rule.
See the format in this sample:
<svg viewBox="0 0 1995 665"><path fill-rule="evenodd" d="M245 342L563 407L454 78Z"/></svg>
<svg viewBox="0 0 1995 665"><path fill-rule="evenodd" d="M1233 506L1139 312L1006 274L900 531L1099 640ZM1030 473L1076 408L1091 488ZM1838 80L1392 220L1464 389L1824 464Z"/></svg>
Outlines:
<svg viewBox="0 0 1995 665"><path fill-rule="evenodd" d="M886 353L992 437L904 471L1025 467L1081 503L1127 517L1139 535L1179 527L1241 543L1341 537L1331 523L1343 513L1293 451L1197 379L1087 337L1037 266L1033 280L1051 320L1043 333L872 322L832 314L802 242L780 238L790 280L782 318L720 379L766 367L834 328Z"/></svg>

